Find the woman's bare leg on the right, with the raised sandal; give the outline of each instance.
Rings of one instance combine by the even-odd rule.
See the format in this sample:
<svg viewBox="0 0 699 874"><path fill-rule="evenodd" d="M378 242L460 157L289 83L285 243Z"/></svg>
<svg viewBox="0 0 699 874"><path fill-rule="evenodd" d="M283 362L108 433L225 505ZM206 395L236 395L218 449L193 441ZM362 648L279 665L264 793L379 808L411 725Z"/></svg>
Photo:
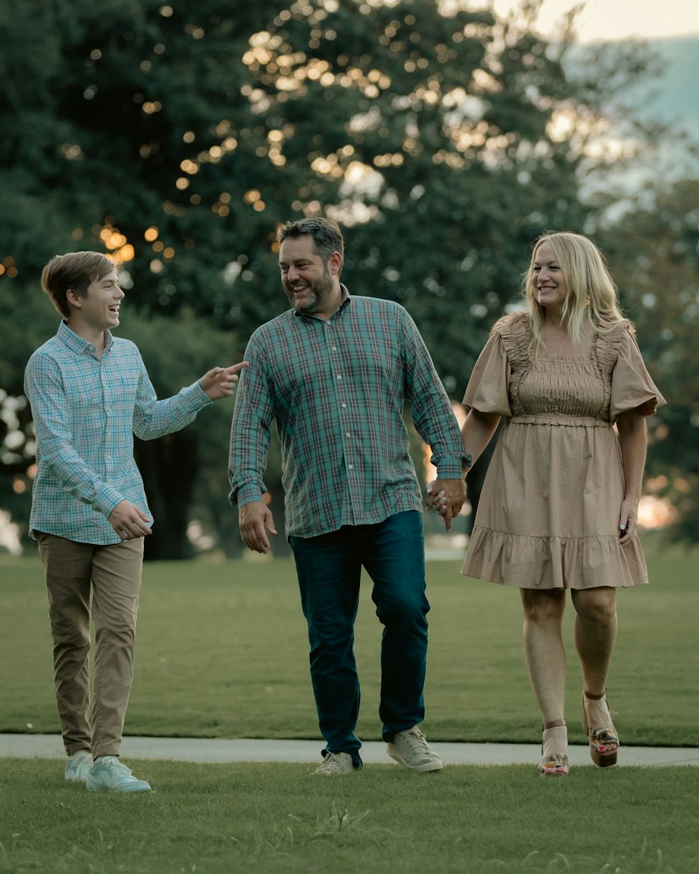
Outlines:
<svg viewBox="0 0 699 874"><path fill-rule="evenodd" d="M583 669L585 689L591 695L603 696L617 639L616 589L599 586L572 591L575 607L575 649ZM606 699L585 697L585 711L592 728L607 728L612 718Z"/></svg>

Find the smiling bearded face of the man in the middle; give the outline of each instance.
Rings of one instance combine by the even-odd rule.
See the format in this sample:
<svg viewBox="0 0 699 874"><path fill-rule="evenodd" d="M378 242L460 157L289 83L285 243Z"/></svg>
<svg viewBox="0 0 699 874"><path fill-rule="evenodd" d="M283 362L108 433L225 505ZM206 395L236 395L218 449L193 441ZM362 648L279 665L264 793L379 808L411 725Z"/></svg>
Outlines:
<svg viewBox="0 0 699 874"><path fill-rule="evenodd" d="M315 253L313 237L288 237L279 250L281 284L296 312L329 318L342 302L338 267L339 253L323 261Z"/></svg>

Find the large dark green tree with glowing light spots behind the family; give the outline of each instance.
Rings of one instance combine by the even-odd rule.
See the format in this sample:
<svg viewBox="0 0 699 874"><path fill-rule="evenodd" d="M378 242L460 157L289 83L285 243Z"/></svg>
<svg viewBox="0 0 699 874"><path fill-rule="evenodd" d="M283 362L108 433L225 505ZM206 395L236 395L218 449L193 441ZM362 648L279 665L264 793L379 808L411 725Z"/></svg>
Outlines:
<svg viewBox="0 0 699 874"><path fill-rule="evenodd" d="M541 38L539 5L500 20L433 0L9 0L5 309L53 253L107 249L140 312L234 329L239 360L286 306L275 226L324 213L347 229L350 290L404 303L460 398L531 240L584 228L582 179L611 161L588 147L649 63L607 50L569 75L570 22Z"/></svg>

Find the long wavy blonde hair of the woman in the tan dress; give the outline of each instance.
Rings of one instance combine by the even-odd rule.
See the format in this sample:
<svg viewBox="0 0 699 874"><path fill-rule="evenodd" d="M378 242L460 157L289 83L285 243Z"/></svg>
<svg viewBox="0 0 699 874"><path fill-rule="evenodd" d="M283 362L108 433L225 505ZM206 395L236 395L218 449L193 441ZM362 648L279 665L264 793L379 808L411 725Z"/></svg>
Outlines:
<svg viewBox="0 0 699 874"><path fill-rule="evenodd" d="M564 274L568 296L564 301L563 319L573 343L580 343L586 326L605 333L624 321L619 309L617 287L604 256L592 239L568 231L544 233L534 243L529 269L522 283L522 296L529 310L534 354L538 347L545 349L542 329L546 316L536 300L534 280L536 253L542 243L548 243L553 249Z"/></svg>

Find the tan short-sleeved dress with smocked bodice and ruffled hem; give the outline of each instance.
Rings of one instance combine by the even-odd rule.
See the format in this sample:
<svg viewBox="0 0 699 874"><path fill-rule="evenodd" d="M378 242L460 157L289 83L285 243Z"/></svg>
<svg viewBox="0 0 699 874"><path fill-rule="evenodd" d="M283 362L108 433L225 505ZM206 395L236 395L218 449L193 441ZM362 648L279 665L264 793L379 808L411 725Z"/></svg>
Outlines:
<svg viewBox="0 0 699 874"><path fill-rule="evenodd" d="M647 583L638 538L619 546L624 471L612 423L665 403L627 322L598 332L587 357L529 357L529 316L495 324L464 406L507 417L462 573L505 586Z"/></svg>

